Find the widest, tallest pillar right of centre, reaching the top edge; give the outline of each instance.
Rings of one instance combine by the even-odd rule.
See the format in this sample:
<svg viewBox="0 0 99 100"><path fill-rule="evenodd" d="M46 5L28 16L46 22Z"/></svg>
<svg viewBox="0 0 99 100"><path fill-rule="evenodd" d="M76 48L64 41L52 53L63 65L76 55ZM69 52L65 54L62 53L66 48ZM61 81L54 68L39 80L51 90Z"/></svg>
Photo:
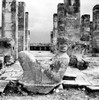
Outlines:
<svg viewBox="0 0 99 100"><path fill-rule="evenodd" d="M64 0L65 31L72 41L80 39L80 0Z"/></svg>

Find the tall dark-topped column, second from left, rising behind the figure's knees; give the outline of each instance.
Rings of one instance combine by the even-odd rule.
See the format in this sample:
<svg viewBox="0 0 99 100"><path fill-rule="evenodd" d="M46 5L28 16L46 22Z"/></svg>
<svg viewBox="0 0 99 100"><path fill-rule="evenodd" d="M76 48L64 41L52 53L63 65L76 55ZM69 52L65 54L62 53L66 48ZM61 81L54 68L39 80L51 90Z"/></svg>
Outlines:
<svg viewBox="0 0 99 100"><path fill-rule="evenodd" d="M18 51L25 50L25 3L18 2Z"/></svg>

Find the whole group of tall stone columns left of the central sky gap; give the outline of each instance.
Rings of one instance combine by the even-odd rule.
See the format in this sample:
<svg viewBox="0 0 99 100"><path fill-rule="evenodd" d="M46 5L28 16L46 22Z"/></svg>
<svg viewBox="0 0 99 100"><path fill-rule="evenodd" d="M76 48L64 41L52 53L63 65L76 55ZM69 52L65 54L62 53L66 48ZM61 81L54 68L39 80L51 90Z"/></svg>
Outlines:
<svg viewBox="0 0 99 100"><path fill-rule="evenodd" d="M14 41L16 59L18 52L29 50L29 37L28 12L25 12L25 3L16 0L3 0L1 38L10 38Z"/></svg>

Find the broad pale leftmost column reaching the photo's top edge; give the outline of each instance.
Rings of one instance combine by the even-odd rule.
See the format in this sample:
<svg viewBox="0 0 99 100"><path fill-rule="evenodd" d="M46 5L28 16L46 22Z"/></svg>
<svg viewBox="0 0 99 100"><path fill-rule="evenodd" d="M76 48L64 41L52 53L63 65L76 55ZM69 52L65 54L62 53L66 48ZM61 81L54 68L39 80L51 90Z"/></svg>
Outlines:
<svg viewBox="0 0 99 100"><path fill-rule="evenodd" d="M14 43L14 57L17 59L17 26L16 26L16 0L2 1L2 38L12 39Z"/></svg>

